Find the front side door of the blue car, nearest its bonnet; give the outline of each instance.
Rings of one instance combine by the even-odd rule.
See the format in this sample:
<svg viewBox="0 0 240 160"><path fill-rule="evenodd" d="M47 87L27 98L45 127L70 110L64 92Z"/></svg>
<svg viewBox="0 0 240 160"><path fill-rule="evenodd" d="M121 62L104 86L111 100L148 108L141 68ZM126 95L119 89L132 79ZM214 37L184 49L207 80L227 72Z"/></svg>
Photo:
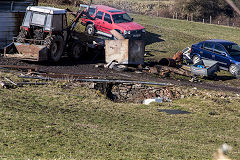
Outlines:
<svg viewBox="0 0 240 160"><path fill-rule="evenodd" d="M219 66L222 69L228 69L230 65L230 59L228 57L228 54L225 48L221 44L215 43L214 55L215 55L215 60L218 61L219 63Z"/></svg>

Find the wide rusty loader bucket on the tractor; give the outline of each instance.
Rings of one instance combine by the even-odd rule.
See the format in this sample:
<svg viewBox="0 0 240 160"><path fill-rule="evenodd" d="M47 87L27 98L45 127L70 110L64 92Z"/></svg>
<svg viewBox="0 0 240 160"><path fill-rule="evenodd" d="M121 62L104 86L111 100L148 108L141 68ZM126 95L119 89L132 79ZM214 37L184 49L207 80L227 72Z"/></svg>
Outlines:
<svg viewBox="0 0 240 160"><path fill-rule="evenodd" d="M17 42L14 42L14 45L18 51L18 54L6 54L6 57L18 58L29 61L48 60L48 48L45 45Z"/></svg>

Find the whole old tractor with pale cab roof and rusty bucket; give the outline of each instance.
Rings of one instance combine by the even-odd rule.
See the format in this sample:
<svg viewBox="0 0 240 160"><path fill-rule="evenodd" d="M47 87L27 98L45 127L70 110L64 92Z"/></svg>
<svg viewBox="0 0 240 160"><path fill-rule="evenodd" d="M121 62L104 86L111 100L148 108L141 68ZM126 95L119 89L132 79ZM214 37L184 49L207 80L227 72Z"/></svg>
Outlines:
<svg viewBox="0 0 240 160"><path fill-rule="evenodd" d="M78 59L84 52L81 39L74 36L74 29L83 11L78 11L75 20L67 26L67 10L44 6L29 6L14 39L18 54L7 54L30 61L50 60L57 62L64 53Z"/></svg>

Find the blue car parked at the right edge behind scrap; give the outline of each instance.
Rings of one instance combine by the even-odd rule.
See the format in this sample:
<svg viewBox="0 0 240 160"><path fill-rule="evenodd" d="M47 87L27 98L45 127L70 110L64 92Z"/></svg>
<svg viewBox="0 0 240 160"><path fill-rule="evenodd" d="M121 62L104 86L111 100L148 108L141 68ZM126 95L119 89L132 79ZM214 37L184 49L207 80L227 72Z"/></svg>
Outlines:
<svg viewBox="0 0 240 160"><path fill-rule="evenodd" d="M190 57L193 63L201 59L214 60L220 69L228 70L232 75L239 75L240 46L234 42L213 39L193 44Z"/></svg>

